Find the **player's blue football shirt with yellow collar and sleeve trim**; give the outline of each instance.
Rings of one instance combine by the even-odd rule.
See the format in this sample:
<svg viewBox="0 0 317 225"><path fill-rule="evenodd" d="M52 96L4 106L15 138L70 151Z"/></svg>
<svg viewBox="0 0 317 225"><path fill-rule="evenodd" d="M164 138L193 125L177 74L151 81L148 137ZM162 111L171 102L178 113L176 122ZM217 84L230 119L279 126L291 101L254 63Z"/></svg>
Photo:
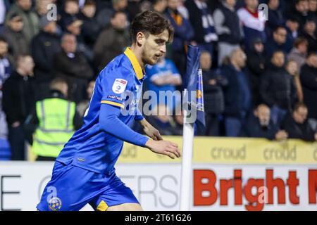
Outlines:
<svg viewBox="0 0 317 225"><path fill-rule="evenodd" d="M96 79L82 128L66 143L56 161L97 173L113 172L123 141L100 128L101 104L122 108L118 119L128 126L139 120L137 104L142 94L144 76L144 70L130 48L114 58Z"/></svg>

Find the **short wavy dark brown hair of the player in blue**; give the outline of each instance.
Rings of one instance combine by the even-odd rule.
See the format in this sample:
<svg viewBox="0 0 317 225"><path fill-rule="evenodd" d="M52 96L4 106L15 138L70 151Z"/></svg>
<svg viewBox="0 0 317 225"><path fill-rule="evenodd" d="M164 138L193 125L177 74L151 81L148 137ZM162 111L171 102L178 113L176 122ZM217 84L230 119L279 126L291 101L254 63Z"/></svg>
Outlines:
<svg viewBox="0 0 317 225"><path fill-rule="evenodd" d="M146 37L149 37L149 34L161 34L164 30L168 30L168 42L173 41L174 29L167 18L154 11L139 13L132 20L130 27L132 43L135 43L138 32L143 32Z"/></svg>

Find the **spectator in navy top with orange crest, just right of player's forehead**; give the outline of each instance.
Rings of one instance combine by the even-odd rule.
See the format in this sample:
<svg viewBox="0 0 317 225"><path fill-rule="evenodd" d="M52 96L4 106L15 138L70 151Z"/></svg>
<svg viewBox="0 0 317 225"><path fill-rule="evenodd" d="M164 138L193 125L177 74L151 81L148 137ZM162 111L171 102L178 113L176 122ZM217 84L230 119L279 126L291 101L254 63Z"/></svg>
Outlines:
<svg viewBox="0 0 317 225"><path fill-rule="evenodd" d="M172 43L173 61L175 62L181 75L185 74L186 51L189 41L194 38L194 30L189 21L178 12L180 0L168 0L166 16L174 27L174 39Z"/></svg>

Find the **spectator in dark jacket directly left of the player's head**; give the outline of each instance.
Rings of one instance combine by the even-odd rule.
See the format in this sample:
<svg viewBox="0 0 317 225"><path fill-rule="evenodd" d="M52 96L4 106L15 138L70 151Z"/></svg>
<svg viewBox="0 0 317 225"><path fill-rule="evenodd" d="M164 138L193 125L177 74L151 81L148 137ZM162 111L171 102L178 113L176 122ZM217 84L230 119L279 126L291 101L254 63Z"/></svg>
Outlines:
<svg viewBox="0 0 317 225"><path fill-rule="evenodd" d="M94 65L98 72L130 45L125 13L113 13L111 26L99 34L94 45Z"/></svg>

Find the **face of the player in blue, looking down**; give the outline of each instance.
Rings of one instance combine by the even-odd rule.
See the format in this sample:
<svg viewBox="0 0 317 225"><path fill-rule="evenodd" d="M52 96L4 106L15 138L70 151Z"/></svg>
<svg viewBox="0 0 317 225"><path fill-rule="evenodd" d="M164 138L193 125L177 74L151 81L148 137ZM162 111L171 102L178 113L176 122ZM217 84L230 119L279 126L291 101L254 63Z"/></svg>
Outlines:
<svg viewBox="0 0 317 225"><path fill-rule="evenodd" d="M166 42L168 41L168 30L161 34L149 34L142 46L142 61L144 64L154 65L166 53Z"/></svg>

